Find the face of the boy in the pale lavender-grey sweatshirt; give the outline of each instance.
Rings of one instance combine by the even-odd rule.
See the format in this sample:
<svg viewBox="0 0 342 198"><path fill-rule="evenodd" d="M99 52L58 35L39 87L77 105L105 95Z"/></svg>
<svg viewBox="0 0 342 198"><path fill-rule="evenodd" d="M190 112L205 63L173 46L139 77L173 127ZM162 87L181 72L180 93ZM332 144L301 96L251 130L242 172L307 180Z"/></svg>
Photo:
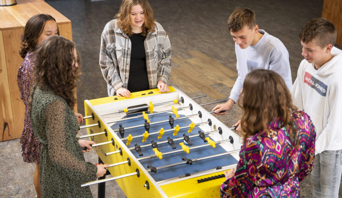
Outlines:
<svg viewBox="0 0 342 198"><path fill-rule="evenodd" d="M231 35L233 40L241 49L246 49L250 45L256 44L254 43L255 35L258 33L258 25L255 25L253 29L250 29L247 25L240 31L232 32Z"/></svg>

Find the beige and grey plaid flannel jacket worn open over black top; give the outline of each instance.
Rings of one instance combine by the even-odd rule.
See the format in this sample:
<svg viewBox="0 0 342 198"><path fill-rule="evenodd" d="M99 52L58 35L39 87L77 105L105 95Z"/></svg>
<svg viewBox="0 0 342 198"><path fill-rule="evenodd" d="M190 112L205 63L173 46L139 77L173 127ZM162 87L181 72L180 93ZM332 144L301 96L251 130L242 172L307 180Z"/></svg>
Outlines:
<svg viewBox="0 0 342 198"><path fill-rule="evenodd" d="M167 83L171 72L171 44L168 34L157 23L144 41L149 88L157 88L159 80ZM100 67L104 79L114 93L120 86L127 88L131 59L131 40L117 27L117 19L109 21L101 35Z"/></svg>

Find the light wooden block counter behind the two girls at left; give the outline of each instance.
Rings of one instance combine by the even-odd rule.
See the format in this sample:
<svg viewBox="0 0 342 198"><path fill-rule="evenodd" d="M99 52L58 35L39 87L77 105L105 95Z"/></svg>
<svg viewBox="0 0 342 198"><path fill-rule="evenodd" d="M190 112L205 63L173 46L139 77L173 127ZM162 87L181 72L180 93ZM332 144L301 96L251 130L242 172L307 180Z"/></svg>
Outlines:
<svg viewBox="0 0 342 198"><path fill-rule="evenodd" d="M53 16L60 35L73 40L71 21L42 0L17 0L17 5L0 6L0 141L20 138L23 132L25 105L16 81L23 62L20 36L27 20L40 13Z"/></svg>

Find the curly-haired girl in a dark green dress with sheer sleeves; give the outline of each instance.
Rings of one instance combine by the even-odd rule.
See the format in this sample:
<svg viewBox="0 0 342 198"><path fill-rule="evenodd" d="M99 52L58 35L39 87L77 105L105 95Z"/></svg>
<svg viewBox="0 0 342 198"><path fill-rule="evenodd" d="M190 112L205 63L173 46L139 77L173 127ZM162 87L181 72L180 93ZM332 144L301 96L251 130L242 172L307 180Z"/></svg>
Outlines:
<svg viewBox="0 0 342 198"><path fill-rule="evenodd" d="M89 148L89 152L95 142L76 137L79 126L73 107L77 60L75 44L61 36L45 39L36 51L30 117L42 144L42 197L92 197L90 188L81 184L103 176L109 166L85 162L81 147Z"/></svg>

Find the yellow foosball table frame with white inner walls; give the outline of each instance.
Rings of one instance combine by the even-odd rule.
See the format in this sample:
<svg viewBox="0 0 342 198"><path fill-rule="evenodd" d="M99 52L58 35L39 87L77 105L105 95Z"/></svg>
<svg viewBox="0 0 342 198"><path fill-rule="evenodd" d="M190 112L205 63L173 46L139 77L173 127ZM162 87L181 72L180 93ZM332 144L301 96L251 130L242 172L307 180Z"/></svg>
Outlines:
<svg viewBox="0 0 342 198"><path fill-rule="evenodd" d="M242 145L240 137L237 136L231 129L222 124L213 115L211 115L211 113L203 109L194 100L186 96L182 91L171 86L169 87L169 89L170 91L168 93L158 93L158 89L131 93L130 98L112 96L94 100L85 100L84 109L85 118L87 119L86 126L84 128L87 127L87 131L89 134L87 137L89 137L90 140L96 143L93 146L99 145L97 146L97 148L94 148L99 158L105 164L115 165L113 167L109 167L108 171L113 176L113 179L116 180L116 182L127 197L218 197L220 194L220 186L222 182L225 181L225 177L223 176L224 171L234 168L236 166L236 162L239 160L238 154ZM150 109L151 104L155 104L153 109ZM161 105L157 106L156 104ZM212 167L203 167L203 170L201 171L192 172L183 176L178 176L176 175L177 173L174 173L174 175L170 175L167 179L156 181L152 175L154 174L153 168L155 167L151 168L144 166L139 159L140 156L137 157L137 153L134 151L134 146L129 145L131 139L128 137L128 130L125 130L124 137L120 137L119 129L111 128L111 125L116 124L116 122L113 121L122 119L126 116L127 113L130 112L130 109L132 109L132 107L139 107L141 105L143 105L143 107L145 105L147 115L152 113L150 112L151 110L153 111L153 113L170 110L169 117L171 118L171 115L174 116L175 126L177 124L177 118L175 116L176 114L181 115L179 118L183 117L183 115L195 115L187 118L190 119L192 124L209 123L210 121L210 124L196 124L201 131L214 131L206 136L206 140L208 140L208 142L205 143L202 141L203 144L208 144L209 148L207 149L212 150L215 149L214 147L216 144L216 146L220 147L220 149L224 149L224 151L229 152L229 154L235 160L235 163L220 165L219 168L213 168L217 166L216 164L213 164ZM149 111L147 111L148 109ZM174 109L178 109L178 112L171 111ZM142 115L141 112L135 113L135 115L138 115L137 117L142 117L139 116ZM140 124L144 123L144 118L137 118L135 125L138 125L138 127L140 126L140 128L143 129L143 127L141 127L142 125ZM149 124L154 124L153 119L151 119L150 122L151 123ZM167 123L167 125L168 124L169 123ZM168 128L164 128L166 129L165 131L167 131ZM218 129L220 129L220 131L215 132L218 131ZM171 128L169 129L169 131L170 130L173 129ZM187 133L187 129L184 130L186 135L189 136L194 136L193 134L197 134L197 131ZM188 132L189 131L191 131L190 128ZM151 141L150 137L152 138L152 132L154 131L149 131L149 141ZM171 133L165 136L172 137L172 132L174 131L171 131ZM162 133L164 133L164 130L162 130ZM161 136L163 135L162 133L159 130L159 136L154 136L152 139L159 141L158 139L159 137L161 138ZM148 135L148 133L145 133L145 135ZM140 141L140 145L143 147L143 142L144 140L146 141L147 137L141 135L140 140L141 139L143 140ZM163 138L161 140L165 141L166 138ZM148 143L149 141L145 143ZM188 149L186 153L182 152L180 154L181 157L186 156L188 155L188 152L193 151L191 150L192 146L188 145L187 147L186 144L183 144L182 142L174 143L174 145L177 146L177 149L181 148L181 146L182 148L184 146L184 151ZM184 141L184 143L186 142ZM167 143L165 145L167 145ZM191 151L189 151L189 148ZM170 148L170 150L172 149ZM153 151L155 151L155 149ZM136 155L134 155L133 152ZM155 152L156 156L158 156L158 151ZM147 154L145 154L143 157L145 157L146 155ZM164 160L161 158L168 157L166 155L161 155L162 154L160 153L159 159L158 157L154 156L156 157L156 159L154 159L156 160L156 163L154 164L158 165L158 160ZM225 157L225 155L223 157ZM181 165L180 168L182 166L190 166L189 164L192 163L192 160L187 160L188 161L186 162L186 164L184 160L184 165ZM177 158L173 159L172 161L182 162L182 159ZM196 163L201 163L201 161L198 161ZM95 183L90 182L89 184L85 185L91 184Z"/></svg>

